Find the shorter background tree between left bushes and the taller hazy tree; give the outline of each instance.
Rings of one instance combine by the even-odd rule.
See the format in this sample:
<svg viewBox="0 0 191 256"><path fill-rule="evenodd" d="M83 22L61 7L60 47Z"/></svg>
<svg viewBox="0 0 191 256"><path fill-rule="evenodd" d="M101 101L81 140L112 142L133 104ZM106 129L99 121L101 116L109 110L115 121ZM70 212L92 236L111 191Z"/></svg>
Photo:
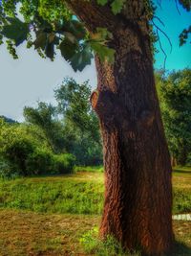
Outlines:
<svg viewBox="0 0 191 256"><path fill-rule="evenodd" d="M53 152L65 151L63 126L56 118L53 105L39 102L36 108L25 106L23 115L28 123L43 131Z"/></svg>

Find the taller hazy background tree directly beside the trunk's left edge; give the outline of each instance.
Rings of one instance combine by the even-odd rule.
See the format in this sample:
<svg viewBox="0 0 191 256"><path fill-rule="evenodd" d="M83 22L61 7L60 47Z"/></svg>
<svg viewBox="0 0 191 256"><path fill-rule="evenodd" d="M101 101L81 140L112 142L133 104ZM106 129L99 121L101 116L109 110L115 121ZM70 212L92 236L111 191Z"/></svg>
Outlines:
<svg viewBox="0 0 191 256"><path fill-rule="evenodd" d="M77 83L66 79L54 91L57 110L64 121L65 147L74 153L79 165L102 163L98 119L90 104L88 81Z"/></svg>

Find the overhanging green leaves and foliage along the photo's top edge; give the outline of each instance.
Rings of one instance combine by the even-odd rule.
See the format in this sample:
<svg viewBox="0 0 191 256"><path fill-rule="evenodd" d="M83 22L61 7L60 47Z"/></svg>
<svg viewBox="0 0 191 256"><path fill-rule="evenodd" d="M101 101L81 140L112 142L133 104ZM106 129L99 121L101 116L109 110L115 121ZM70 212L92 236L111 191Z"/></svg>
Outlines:
<svg viewBox="0 0 191 256"><path fill-rule="evenodd" d="M81 0L91 1L91 0ZM80 2L79 1L79 5ZM108 47L112 39L105 28L97 28L90 34L84 24L74 16L67 5L67 0L2 0L0 1L0 44L6 38L7 48L13 58L18 58L15 46L27 41L27 47L37 50L42 58L53 60L60 51L74 68L81 71L91 63L96 53L99 58L114 61L115 50ZM111 8L116 15L122 12L127 0L96 0L97 5ZM176 2L176 1L175 1ZM190 11L189 0L179 0L180 4ZM153 2L144 1L145 8ZM151 8L149 8L149 11ZM150 15L152 18L153 15ZM185 43L190 28L180 35L180 45Z"/></svg>

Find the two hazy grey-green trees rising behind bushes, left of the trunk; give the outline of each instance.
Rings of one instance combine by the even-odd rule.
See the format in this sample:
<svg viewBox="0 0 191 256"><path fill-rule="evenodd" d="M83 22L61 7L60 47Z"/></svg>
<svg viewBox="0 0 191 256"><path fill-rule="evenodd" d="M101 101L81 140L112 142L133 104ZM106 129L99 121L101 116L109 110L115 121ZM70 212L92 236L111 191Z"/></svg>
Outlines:
<svg viewBox="0 0 191 256"><path fill-rule="evenodd" d="M73 153L77 165L101 164L99 125L90 105L88 81L66 79L54 93L56 106L40 102L37 107L24 108L27 124L40 130L54 153Z"/></svg>

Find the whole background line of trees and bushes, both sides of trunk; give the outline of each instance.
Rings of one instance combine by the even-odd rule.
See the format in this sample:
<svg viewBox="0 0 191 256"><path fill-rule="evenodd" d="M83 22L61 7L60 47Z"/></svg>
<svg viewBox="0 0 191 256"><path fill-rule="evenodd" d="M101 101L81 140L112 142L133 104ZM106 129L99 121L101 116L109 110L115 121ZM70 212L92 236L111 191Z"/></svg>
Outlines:
<svg viewBox="0 0 191 256"><path fill-rule="evenodd" d="M162 119L172 163L191 163L191 70L156 72ZM98 119L89 81L65 79L54 90L56 105L25 106L25 122L0 123L1 175L73 172L74 165L102 164Z"/></svg>

